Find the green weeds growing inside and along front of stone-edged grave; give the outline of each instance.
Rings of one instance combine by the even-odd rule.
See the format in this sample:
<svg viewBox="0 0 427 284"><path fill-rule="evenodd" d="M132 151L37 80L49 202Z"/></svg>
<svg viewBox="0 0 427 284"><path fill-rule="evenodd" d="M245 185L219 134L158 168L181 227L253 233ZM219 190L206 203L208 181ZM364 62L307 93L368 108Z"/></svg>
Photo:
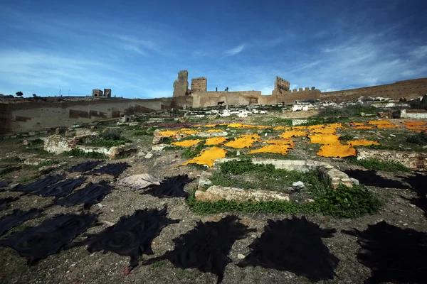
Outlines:
<svg viewBox="0 0 427 284"><path fill-rule="evenodd" d="M378 212L381 206L381 202L364 187L339 185L336 190L332 190L327 187L325 182L320 180L318 173L315 172L301 173L275 169L273 165L255 165L250 160L233 160L221 163L220 170L216 171L211 178L213 185L280 191L292 185L292 182L302 181L307 187L306 194L315 199L315 202L264 201L238 203L234 200L201 202L196 200L193 192L187 200L191 210L199 214L219 212L322 213L337 218L356 218L364 214L374 214ZM246 181L246 175L250 175L253 180Z"/></svg>

